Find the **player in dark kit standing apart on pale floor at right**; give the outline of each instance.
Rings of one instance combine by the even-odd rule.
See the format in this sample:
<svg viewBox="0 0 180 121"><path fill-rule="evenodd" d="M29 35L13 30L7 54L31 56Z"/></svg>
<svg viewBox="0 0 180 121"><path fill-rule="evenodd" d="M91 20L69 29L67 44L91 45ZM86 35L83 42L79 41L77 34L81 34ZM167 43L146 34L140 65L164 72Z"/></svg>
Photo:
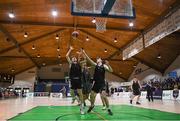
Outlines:
<svg viewBox="0 0 180 121"><path fill-rule="evenodd" d="M132 89L132 96L131 96L131 100L130 100L130 103L132 104L132 101L135 97L137 97L137 101L136 101L136 104L137 105L140 105L139 103L139 98L141 96L141 85L139 83L139 80L135 77L132 81L132 86L131 86L131 89Z"/></svg>

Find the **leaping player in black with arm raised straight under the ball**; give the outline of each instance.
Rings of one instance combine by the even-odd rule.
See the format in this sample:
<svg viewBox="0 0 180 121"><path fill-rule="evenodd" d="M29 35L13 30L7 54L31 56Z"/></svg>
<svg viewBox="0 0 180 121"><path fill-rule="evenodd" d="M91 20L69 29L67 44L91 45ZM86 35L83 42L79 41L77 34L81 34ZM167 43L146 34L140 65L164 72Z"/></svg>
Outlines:
<svg viewBox="0 0 180 121"><path fill-rule="evenodd" d="M74 91L77 90L80 99L80 113L84 114L82 82L81 82L82 70L81 70L80 62L76 57L72 57L72 59L70 59L69 55L72 50L73 47L70 47L69 51L66 54L66 58L67 61L69 62L69 68L70 68L70 72L69 72L69 78L71 81L70 92L71 92L71 96L74 98L75 97Z"/></svg>

